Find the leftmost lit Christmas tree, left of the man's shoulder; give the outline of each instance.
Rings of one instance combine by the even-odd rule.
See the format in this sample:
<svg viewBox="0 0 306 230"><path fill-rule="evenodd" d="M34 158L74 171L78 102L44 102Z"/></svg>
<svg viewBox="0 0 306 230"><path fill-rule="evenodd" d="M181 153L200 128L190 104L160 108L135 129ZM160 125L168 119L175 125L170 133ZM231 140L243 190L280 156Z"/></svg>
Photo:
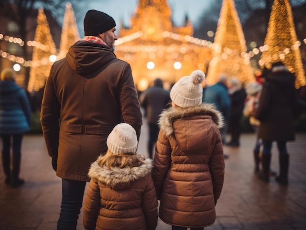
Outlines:
<svg viewBox="0 0 306 230"><path fill-rule="evenodd" d="M28 84L29 92L38 91L44 87L52 65L49 58L56 54L56 47L43 8L38 10L37 27L32 43L34 43L32 44L34 47Z"/></svg>

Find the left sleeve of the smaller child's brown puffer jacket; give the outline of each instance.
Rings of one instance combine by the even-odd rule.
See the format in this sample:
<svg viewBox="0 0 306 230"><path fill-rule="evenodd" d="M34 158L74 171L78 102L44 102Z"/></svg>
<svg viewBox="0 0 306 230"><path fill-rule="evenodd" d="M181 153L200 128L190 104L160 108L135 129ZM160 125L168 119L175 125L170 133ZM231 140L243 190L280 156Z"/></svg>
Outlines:
<svg viewBox="0 0 306 230"><path fill-rule="evenodd" d="M90 180L84 199L83 225L86 230L95 230L100 208L100 189L93 179Z"/></svg>

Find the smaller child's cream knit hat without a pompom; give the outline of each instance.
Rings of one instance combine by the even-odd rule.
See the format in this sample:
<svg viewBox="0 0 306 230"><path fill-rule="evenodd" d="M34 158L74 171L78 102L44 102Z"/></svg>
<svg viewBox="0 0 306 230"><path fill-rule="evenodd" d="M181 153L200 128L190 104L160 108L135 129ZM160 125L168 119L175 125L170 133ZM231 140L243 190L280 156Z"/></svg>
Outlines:
<svg viewBox="0 0 306 230"><path fill-rule="evenodd" d="M109 133L106 143L113 154L135 153L138 144L136 131L131 125L120 123Z"/></svg>

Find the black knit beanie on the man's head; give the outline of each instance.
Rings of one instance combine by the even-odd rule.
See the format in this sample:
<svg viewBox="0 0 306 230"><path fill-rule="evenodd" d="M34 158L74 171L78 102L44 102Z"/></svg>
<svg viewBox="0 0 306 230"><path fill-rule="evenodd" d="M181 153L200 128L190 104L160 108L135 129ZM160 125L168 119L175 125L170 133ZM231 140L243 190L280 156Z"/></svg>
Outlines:
<svg viewBox="0 0 306 230"><path fill-rule="evenodd" d="M85 36L96 36L116 26L116 22L108 14L97 10L88 10L84 18Z"/></svg>

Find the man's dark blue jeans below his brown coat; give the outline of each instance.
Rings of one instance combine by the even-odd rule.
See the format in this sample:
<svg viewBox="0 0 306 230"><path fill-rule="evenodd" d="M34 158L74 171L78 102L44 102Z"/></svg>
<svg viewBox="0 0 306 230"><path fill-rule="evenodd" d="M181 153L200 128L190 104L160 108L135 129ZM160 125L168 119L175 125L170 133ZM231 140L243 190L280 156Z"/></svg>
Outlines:
<svg viewBox="0 0 306 230"><path fill-rule="evenodd" d="M85 186L85 181L62 179L62 205L57 230L76 230Z"/></svg>

